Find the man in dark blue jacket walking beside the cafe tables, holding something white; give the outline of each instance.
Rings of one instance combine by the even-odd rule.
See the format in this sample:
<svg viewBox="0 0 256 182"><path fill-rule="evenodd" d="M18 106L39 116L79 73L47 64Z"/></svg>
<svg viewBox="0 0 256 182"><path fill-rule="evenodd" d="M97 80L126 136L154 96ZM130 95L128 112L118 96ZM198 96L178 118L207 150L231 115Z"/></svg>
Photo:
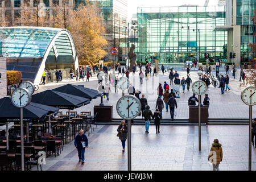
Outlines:
<svg viewBox="0 0 256 182"><path fill-rule="evenodd" d="M79 162L81 162L82 160L81 164L84 164L84 151L85 151L85 148L88 147L88 139L84 134L84 130L80 130L79 134L76 135L75 147L77 148L77 151L79 154Z"/></svg>

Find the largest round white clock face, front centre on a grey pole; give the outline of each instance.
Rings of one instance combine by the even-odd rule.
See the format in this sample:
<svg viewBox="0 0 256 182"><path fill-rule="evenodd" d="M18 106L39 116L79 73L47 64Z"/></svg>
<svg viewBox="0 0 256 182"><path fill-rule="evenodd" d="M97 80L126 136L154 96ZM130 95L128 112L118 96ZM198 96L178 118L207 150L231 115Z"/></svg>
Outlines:
<svg viewBox="0 0 256 182"><path fill-rule="evenodd" d="M117 101L117 113L123 119L134 119L141 111L141 101L134 96L123 96Z"/></svg>

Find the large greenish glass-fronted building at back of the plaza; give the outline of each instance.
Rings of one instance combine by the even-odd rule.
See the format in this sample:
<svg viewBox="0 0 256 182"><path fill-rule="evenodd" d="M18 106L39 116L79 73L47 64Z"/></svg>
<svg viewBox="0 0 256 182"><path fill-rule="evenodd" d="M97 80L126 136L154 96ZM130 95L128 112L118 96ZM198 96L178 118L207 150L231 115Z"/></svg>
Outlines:
<svg viewBox="0 0 256 182"><path fill-rule="evenodd" d="M227 32L214 31L226 24L225 6L138 7L137 15L135 53L147 60L184 63L189 55L199 59L204 53L226 58Z"/></svg>

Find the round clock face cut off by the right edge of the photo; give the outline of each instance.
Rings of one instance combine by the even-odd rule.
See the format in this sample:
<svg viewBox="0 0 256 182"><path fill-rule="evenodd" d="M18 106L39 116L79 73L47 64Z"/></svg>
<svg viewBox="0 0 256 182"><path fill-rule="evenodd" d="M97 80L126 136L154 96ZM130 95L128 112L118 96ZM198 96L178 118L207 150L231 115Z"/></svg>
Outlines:
<svg viewBox="0 0 256 182"><path fill-rule="evenodd" d="M256 104L256 88L253 86L249 86L243 90L241 93L242 101L249 106L253 106Z"/></svg>

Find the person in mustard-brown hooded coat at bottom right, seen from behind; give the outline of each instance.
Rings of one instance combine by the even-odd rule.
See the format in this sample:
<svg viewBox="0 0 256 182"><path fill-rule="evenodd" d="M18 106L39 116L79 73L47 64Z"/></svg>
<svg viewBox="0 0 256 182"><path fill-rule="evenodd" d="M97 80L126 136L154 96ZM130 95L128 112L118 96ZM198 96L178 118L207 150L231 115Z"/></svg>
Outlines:
<svg viewBox="0 0 256 182"><path fill-rule="evenodd" d="M220 162L222 162L222 147L221 144L218 143L218 139L214 139L212 148L210 148L210 154L208 156L208 161L212 163L213 171L220 171L220 168L218 167Z"/></svg>

